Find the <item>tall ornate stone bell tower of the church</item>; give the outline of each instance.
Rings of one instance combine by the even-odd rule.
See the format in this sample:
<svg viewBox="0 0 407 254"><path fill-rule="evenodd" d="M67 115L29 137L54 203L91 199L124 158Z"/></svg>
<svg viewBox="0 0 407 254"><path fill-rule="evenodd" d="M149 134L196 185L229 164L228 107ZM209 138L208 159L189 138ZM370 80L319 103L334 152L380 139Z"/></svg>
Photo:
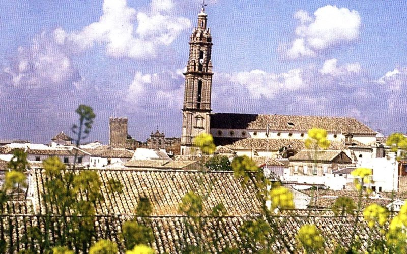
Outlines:
<svg viewBox="0 0 407 254"><path fill-rule="evenodd" d="M207 28L205 4L198 14L198 26L189 41L189 59L185 75L185 94L181 154L196 155L192 142L200 133L209 133L212 89L212 37Z"/></svg>

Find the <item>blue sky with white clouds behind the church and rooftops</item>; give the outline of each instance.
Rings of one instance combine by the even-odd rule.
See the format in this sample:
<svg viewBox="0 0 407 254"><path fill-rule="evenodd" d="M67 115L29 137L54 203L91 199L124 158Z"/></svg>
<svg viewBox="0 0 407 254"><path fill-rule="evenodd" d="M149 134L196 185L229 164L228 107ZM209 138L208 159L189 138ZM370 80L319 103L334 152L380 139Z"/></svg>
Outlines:
<svg viewBox="0 0 407 254"><path fill-rule="evenodd" d="M407 3L208 1L214 112L351 116L406 132ZM2 1L0 139L68 134L76 107L180 136L195 0Z"/></svg>

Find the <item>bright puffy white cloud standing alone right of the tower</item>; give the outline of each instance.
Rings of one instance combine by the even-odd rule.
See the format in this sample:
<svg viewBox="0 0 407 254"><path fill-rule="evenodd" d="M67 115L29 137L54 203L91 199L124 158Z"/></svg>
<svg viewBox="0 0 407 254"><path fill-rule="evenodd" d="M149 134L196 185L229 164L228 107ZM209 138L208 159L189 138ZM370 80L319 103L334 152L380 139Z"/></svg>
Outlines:
<svg viewBox="0 0 407 254"><path fill-rule="evenodd" d="M279 47L289 59L314 57L328 48L359 38L361 17L355 10L327 5L317 9L313 17L304 10L297 11L294 17L299 20L297 38Z"/></svg>

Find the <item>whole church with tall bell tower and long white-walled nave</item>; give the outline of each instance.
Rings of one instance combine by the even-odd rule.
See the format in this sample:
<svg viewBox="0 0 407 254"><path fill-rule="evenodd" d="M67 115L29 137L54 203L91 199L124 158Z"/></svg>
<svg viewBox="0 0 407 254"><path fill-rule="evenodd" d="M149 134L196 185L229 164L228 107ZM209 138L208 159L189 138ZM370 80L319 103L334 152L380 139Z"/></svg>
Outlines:
<svg viewBox="0 0 407 254"><path fill-rule="evenodd" d="M200 133L212 134L217 146L226 146L238 155L256 152L259 156L273 156L282 147L299 151L304 149L307 131L313 127L327 130L330 149L360 146L371 150L376 147L377 132L355 118L212 113L213 44L207 22L208 15L202 8L189 41L189 59L184 73L181 155L199 153L193 148L193 139Z"/></svg>

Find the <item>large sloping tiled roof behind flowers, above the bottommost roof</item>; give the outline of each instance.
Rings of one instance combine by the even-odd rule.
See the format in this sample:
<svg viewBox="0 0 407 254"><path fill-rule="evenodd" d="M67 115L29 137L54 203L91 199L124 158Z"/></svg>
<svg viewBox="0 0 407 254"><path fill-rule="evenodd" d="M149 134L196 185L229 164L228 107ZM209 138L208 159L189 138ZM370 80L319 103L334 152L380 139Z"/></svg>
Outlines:
<svg viewBox="0 0 407 254"><path fill-rule="evenodd" d="M79 170L76 171L78 173ZM203 202L205 214L212 207L222 202L229 215L247 215L260 210L260 203L255 196L254 179L243 188L233 172L201 172L173 170L96 170L103 185L101 192L104 203L98 203L97 214L134 214L140 197L149 198L153 205L153 215L182 215L178 204L190 190L201 196L208 194ZM123 192L112 194L106 182L109 179L119 180ZM32 188L34 193L34 211L45 213L42 195L45 192L44 172L32 170ZM201 185L200 185L201 184Z"/></svg>

